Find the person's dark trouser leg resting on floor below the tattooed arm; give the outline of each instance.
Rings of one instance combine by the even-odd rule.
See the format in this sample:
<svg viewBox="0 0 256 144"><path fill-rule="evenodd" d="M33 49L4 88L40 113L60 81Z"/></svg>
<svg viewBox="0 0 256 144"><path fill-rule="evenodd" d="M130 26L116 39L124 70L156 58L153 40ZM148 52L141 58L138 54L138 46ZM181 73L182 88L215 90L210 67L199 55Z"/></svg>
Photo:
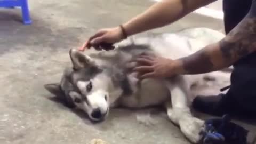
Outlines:
<svg viewBox="0 0 256 144"><path fill-rule="evenodd" d="M256 57L256 55L255 55ZM256 117L256 68L236 66L231 74L231 87L219 96L198 96L193 107L215 116L230 114L238 117Z"/></svg>

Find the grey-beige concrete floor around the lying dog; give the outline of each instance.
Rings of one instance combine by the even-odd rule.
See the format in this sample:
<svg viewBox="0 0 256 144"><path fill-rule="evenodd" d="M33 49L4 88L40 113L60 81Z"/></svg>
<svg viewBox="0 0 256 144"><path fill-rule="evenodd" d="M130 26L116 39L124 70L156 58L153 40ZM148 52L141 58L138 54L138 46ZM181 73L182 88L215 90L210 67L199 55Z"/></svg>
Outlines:
<svg viewBox="0 0 256 144"><path fill-rule="evenodd" d="M60 3L61 2L61 3ZM97 29L117 26L153 2L141 0L29 1L33 25L20 23L19 10L0 11L0 143L189 143L158 110L114 109L109 118L91 124L55 102L43 85L58 82L70 48L81 46ZM222 22L190 14L173 25L222 29Z"/></svg>

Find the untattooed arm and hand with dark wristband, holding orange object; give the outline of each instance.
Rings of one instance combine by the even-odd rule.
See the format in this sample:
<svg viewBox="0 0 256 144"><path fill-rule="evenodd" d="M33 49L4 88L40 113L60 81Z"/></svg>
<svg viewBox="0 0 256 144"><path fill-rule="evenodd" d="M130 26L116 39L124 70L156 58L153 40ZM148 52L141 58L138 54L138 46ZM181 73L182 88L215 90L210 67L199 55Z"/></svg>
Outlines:
<svg viewBox="0 0 256 144"><path fill-rule="evenodd" d="M98 30L79 50L84 51L86 47L90 48L91 46L94 48L97 47L97 50L104 49L104 46L101 47L99 45L102 43L111 45L122 41L128 36L163 27L213 1L216 0L163 0L157 2L145 12L123 23L122 26Z"/></svg>

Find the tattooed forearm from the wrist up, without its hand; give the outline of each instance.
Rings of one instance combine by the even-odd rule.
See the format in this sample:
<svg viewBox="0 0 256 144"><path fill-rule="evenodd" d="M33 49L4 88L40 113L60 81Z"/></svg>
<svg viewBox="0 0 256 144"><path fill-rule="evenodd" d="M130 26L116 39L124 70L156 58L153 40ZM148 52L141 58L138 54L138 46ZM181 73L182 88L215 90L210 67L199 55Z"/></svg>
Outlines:
<svg viewBox="0 0 256 144"><path fill-rule="evenodd" d="M220 70L256 51L256 1L246 17L221 41L179 59L178 74ZM256 65L256 63L255 63Z"/></svg>

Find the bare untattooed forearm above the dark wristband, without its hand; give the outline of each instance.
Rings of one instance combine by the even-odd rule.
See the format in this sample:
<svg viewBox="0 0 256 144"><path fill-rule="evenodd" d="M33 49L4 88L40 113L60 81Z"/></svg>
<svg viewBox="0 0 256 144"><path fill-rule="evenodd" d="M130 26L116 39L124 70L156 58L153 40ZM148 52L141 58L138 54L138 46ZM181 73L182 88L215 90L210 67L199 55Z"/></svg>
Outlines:
<svg viewBox="0 0 256 144"><path fill-rule="evenodd" d="M124 23L128 36L163 27L216 0L163 0Z"/></svg>

